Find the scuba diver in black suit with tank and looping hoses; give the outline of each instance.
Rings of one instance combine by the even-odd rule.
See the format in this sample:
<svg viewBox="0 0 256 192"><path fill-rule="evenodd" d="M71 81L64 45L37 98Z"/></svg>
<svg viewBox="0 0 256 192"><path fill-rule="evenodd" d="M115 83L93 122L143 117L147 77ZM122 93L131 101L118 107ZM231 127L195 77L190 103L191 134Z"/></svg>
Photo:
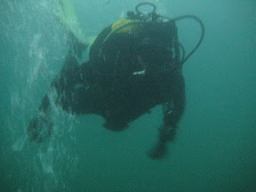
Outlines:
<svg viewBox="0 0 256 192"><path fill-rule="evenodd" d="M153 11L140 12L145 4ZM186 56L178 40L176 21L187 18L199 22L202 35ZM148 156L166 156L186 104L182 67L203 38L204 25L196 16L169 19L156 13L155 4L138 4L135 12L127 12L127 18L100 32L90 47L89 60L82 65L76 54L81 55L83 45L70 46L64 67L51 84L50 92L56 92L57 98L51 100L50 92L44 96L28 126L30 140L41 142L45 135L51 135L53 105L76 115L102 116L104 127L114 132L162 105L163 124L158 127L156 145Z"/></svg>

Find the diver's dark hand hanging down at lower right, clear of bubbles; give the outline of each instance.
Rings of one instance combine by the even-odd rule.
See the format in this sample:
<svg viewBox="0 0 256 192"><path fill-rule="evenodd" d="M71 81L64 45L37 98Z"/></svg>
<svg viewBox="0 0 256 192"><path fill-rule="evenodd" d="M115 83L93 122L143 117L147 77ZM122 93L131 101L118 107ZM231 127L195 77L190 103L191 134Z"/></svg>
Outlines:
<svg viewBox="0 0 256 192"><path fill-rule="evenodd" d="M173 127L162 126L156 144L149 150L148 156L152 159L160 159L167 156L168 141L173 140Z"/></svg>

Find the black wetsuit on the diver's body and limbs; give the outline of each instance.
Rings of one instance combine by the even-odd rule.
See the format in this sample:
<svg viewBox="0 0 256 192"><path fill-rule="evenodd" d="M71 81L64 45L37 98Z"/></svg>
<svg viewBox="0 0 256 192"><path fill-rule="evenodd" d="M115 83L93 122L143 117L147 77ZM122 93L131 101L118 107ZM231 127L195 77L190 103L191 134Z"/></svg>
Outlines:
<svg viewBox="0 0 256 192"><path fill-rule="evenodd" d="M51 89L58 93L55 103L77 115L103 116L106 119L104 126L113 131L123 130L151 108L163 105L164 123L159 140L162 144L172 141L185 107L184 79L181 67L171 66L174 61L170 57L173 46L170 31L165 32L165 26L148 28L146 33L116 33L102 48L102 42L111 32L111 26L105 28L92 44L89 60L82 65L74 55L68 54L60 75L52 82ZM154 48L156 43L157 49ZM166 57L162 43L170 47ZM74 51L74 47L71 49ZM166 63L167 67L164 66ZM163 68L168 68L169 72L164 73ZM134 74L141 71L145 74ZM35 131L40 124L52 126L50 103L46 95L40 112L29 125L32 140L41 141Z"/></svg>

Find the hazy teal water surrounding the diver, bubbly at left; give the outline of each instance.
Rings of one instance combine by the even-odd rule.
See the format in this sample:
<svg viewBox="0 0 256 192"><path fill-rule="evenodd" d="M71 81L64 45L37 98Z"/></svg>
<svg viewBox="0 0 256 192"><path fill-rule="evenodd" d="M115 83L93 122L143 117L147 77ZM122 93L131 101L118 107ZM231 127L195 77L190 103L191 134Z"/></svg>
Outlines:
<svg viewBox="0 0 256 192"><path fill-rule="evenodd" d="M256 2L152 0L167 17L193 14L204 42L185 63L187 107L169 155L147 156L162 108L124 132L100 116L54 108L54 133L42 143L26 129L60 72L68 33L54 0L0 2L0 191L256 191ZM84 36L96 36L143 1L74 0ZM177 22L187 52L200 37L194 20ZM88 56L84 52L84 60Z"/></svg>

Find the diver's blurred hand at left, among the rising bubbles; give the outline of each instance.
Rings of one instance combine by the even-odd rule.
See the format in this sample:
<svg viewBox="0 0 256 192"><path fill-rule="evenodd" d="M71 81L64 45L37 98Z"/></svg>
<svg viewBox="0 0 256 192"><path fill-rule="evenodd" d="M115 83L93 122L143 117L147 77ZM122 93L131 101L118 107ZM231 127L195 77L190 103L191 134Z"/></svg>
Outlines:
<svg viewBox="0 0 256 192"><path fill-rule="evenodd" d="M38 113L30 121L27 131L29 140L42 142L52 132L52 120L44 113Z"/></svg>

